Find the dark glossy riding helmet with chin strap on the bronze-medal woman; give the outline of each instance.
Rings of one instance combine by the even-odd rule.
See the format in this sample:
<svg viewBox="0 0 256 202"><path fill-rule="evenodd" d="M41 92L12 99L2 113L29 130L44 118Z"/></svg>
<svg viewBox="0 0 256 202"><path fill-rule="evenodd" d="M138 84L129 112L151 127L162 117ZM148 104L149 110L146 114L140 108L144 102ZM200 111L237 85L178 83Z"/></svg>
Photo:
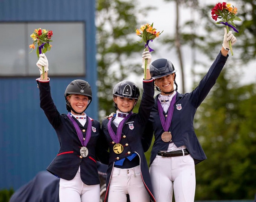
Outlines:
<svg viewBox="0 0 256 202"><path fill-rule="evenodd" d="M154 62L152 62L149 66L149 70L150 70L150 75L153 79L158 79L160 77L164 77L166 75L177 72L177 70L174 69L173 63L171 63L171 61L164 58L157 59ZM176 74L174 75L174 84L176 85L175 90L178 90L178 85L176 84L175 78L176 78ZM163 92L160 90L160 88L158 88L158 86L156 86L156 90ZM163 93L170 94L172 92L163 92Z"/></svg>

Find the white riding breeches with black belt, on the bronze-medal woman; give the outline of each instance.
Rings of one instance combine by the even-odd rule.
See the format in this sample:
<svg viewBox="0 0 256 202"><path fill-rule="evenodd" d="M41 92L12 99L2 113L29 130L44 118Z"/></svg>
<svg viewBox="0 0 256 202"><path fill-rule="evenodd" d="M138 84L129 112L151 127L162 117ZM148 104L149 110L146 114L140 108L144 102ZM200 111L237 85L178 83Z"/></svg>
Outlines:
<svg viewBox="0 0 256 202"><path fill-rule="evenodd" d="M194 202L195 163L191 155L156 156L150 165L150 178L156 202Z"/></svg>

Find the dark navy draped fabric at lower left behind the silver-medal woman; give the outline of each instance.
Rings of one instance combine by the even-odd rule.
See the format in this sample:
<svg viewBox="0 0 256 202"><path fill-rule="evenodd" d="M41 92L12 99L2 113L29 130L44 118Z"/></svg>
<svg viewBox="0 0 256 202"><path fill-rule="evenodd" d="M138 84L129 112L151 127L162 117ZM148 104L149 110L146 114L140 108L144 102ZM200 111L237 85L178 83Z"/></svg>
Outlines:
<svg viewBox="0 0 256 202"><path fill-rule="evenodd" d="M59 202L59 178L41 171L15 191L9 202Z"/></svg>

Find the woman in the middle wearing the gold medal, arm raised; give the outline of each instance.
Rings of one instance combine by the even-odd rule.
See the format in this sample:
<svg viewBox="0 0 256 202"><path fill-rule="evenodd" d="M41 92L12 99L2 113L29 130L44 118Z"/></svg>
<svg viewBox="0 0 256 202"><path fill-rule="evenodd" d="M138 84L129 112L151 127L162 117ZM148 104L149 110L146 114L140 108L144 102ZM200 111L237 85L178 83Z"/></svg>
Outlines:
<svg viewBox="0 0 256 202"><path fill-rule="evenodd" d="M149 51L143 53L143 65L148 60L146 79L143 79L143 95L139 112L132 110L139 99L139 88L131 81L121 81L113 89L116 114L102 121L103 135L100 138L105 151L109 149L106 202L156 201L147 160L141 143L143 130L154 105L154 82L150 77ZM144 66L143 66L144 68Z"/></svg>

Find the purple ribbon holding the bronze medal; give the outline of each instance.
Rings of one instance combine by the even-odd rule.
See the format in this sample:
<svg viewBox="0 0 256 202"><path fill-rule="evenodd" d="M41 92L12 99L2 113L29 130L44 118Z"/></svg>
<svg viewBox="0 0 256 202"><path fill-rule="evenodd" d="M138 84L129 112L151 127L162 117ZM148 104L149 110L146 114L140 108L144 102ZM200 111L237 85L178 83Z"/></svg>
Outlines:
<svg viewBox="0 0 256 202"><path fill-rule="evenodd" d="M159 116L160 116L160 119L161 119L161 124L162 124L162 127L163 127L164 131L168 131L169 128L170 128L171 121L172 121L172 118L173 118L173 110L174 110L174 103L175 103L175 100L176 100L176 95L177 94L175 94L173 96L173 99L170 103L170 107L169 107L169 110L168 110L166 121L165 121L165 117L163 116L163 107L161 106L160 100L158 99L158 102L157 102L157 104L158 104L158 113L159 113Z"/></svg>

